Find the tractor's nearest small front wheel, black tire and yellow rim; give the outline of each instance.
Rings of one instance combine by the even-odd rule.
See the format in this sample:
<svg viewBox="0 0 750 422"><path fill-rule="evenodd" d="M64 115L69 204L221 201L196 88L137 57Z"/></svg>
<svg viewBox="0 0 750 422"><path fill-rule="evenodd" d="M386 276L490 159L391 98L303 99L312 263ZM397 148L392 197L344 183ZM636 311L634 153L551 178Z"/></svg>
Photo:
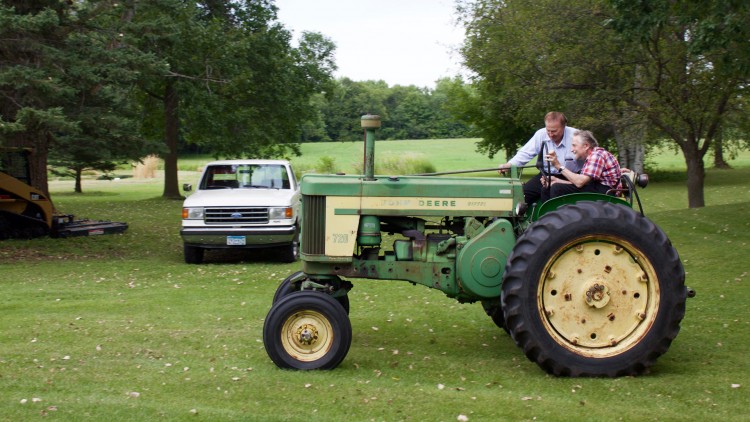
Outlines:
<svg viewBox="0 0 750 422"><path fill-rule="evenodd" d="M344 308L330 296L301 291L276 302L263 324L268 357L283 369L333 369L352 342Z"/></svg>

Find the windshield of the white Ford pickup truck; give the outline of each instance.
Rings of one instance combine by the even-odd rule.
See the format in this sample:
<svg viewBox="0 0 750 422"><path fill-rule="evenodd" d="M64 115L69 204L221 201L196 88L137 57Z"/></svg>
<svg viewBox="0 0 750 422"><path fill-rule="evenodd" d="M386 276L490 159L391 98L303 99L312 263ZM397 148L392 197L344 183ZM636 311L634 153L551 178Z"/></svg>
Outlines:
<svg viewBox="0 0 750 422"><path fill-rule="evenodd" d="M279 164L210 166L201 189L291 189L286 167Z"/></svg>

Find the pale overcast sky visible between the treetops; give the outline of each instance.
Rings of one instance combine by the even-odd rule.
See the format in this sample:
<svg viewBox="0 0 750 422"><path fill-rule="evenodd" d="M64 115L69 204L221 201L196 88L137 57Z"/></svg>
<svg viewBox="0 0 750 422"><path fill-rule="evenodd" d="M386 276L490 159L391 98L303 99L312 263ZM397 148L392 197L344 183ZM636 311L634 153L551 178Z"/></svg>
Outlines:
<svg viewBox="0 0 750 422"><path fill-rule="evenodd" d="M279 20L299 36L336 44L336 77L435 86L459 73L463 30L453 0L276 0Z"/></svg>

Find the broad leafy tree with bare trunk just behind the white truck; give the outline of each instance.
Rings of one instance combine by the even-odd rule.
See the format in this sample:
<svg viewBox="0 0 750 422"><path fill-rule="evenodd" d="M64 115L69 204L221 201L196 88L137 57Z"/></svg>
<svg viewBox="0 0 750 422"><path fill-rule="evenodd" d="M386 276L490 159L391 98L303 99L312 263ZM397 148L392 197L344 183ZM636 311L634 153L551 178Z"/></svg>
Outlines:
<svg viewBox="0 0 750 422"><path fill-rule="evenodd" d="M164 67L141 82L144 131L166 146L163 196L180 197L182 141L216 156L298 153L310 96L325 90L335 45L305 33L300 47L270 1L130 4L126 42Z"/></svg>

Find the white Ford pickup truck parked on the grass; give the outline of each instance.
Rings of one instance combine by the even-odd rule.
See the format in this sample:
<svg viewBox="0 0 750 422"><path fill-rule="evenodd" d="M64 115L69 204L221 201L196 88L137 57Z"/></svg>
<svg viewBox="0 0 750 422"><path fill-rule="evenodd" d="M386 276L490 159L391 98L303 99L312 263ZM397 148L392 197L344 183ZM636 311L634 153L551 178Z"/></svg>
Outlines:
<svg viewBox="0 0 750 422"><path fill-rule="evenodd" d="M200 264L206 249L227 248L278 248L282 261L293 262L299 257L299 207L299 184L288 161L210 162L183 204L185 262Z"/></svg>

